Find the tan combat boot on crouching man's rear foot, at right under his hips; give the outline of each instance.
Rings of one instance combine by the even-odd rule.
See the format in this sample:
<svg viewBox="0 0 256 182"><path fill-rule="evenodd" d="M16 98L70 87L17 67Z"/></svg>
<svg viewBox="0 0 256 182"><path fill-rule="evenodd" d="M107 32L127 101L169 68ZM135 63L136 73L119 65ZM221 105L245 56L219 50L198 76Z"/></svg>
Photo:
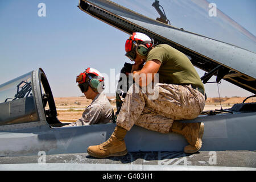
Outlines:
<svg viewBox="0 0 256 182"><path fill-rule="evenodd" d="M174 121L170 131L185 137L189 143L188 146L184 147L185 153L195 153L202 147L204 123L181 123Z"/></svg>

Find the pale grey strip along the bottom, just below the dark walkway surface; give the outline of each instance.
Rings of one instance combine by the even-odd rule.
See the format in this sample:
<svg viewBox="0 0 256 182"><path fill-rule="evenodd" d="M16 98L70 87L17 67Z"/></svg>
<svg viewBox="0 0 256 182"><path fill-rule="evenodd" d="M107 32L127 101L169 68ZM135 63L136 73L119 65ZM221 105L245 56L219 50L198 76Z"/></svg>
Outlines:
<svg viewBox="0 0 256 182"><path fill-rule="evenodd" d="M249 167L165 166L141 164L0 164L1 171L256 171Z"/></svg>

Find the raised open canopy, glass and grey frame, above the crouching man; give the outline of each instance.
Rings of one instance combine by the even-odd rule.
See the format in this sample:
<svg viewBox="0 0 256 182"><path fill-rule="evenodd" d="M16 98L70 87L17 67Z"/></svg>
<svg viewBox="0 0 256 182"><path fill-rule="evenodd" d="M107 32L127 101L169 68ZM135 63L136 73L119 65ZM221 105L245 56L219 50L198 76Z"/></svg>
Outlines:
<svg viewBox="0 0 256 182"><path fill-rule="evenodd" d="M209 73L201 78L204 83L210 76L215 75L217 82L223 78L249 92L256 93L256 54L252 52L255 51L254 35L221 11L217 11L221 16L210 19L209 3L204 0L160 1L160 5L163 5L166 10L166 15L171 16L170 20L166 19L167 23L163 23L164 21L160 21L159 18L153 19L154 16L156 18L161 15L152 13L156 12L152 7L156 2L118 1L121 6L106 0L80 0L79 8L127 34L143 32L154 38L158 44L170 44L185 53L193 65ZM186 6L186 3L189 3L189 6ZM152 9L149 10L150 8ZM177 10L172 11L174 9L179 9L182 13L191 13L193 16L188 16L187 13L183 16L180 13L175 14ZM181 28L181 24L185 27L191 20L195 20L199 25L195 33L191 32L192 28L190 30ZM207 23L208 20L212 22ZM179 28L172 26L172 22L174 24L179 22L179 24L176 23ZM200 29L201 31L198 31Z"/></svg>

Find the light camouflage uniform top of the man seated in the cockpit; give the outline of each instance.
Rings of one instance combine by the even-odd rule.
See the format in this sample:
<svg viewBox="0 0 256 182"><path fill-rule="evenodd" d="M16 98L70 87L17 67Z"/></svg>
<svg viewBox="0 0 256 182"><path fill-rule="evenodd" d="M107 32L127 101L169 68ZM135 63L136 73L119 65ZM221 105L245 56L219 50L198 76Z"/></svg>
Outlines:
<svg viewBox="0 0 256 182"><path fill-rule="evenodd" d="M86 107L82 117L67 126L93 125L98 123L109 123L114 120L114 111L108 98L102 92L98 94L92 103Z"/></svg>

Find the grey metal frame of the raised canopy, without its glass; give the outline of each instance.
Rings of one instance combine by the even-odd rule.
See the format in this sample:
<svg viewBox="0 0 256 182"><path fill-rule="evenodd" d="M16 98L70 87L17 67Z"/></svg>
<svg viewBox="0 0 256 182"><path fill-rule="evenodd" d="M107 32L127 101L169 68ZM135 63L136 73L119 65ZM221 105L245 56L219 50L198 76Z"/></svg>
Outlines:
<svg viewBox="0 0 256 182"><path fill-rule="evenodd" d="M217 77L256 93L256 73L254 71L256 54L254 52L180 30L135 13L111 1L80 0L79 8L127 34L143 32L154 38L155 42L170 44L190 56L193 65L206 72L222 65L218 69L218 74L215 74Z"/></svg>

